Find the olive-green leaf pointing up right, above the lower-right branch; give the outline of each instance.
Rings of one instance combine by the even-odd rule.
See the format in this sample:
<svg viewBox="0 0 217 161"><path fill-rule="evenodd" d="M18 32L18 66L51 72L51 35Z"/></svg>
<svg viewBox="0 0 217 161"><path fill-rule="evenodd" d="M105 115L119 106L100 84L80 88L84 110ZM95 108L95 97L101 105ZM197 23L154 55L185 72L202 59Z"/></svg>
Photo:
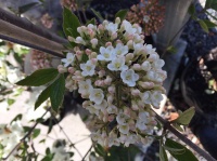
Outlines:
<svg viewBox="0 0 217 161"><path fill-rule="evenodd" d="M171 122L176 122L179 124L188 125L195 113L194 107L191 107L184 110L176 120Z"/></svg>

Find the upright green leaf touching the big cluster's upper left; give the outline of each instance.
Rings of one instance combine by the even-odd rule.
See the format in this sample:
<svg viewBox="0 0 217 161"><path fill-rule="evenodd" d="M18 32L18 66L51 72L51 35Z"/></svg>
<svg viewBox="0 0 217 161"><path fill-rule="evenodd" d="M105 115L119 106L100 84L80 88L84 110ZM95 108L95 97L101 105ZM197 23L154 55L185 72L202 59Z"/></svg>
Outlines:
<svg viewBox="0 0 217 161"><path fill-rule="evenodd" d="M63 9L63 30L65 32L65 36L71 36L73 38L76 38L79 36L77 28L80 26L80 22L78 17L72 13L72 11L67 8ZM68 28L71 28L71 31L68 31Z"/></svg>

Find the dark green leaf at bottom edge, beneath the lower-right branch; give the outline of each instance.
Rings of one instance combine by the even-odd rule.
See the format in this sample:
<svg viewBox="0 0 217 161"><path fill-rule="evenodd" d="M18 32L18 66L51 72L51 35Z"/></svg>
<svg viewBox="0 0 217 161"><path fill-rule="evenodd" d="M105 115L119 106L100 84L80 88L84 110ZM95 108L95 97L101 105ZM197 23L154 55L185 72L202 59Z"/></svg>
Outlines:
<svg viewBox="0 0 217 161"><path fill-rule="evenodd" d="M165 146L173 149L173 150L169 150L169 149L167 150L178 161L197 161L196 157L189 149L187 149L186 146L170 138L166 138ZM177 152L175 151L175 149L184 149L184 151Z"/></svg>

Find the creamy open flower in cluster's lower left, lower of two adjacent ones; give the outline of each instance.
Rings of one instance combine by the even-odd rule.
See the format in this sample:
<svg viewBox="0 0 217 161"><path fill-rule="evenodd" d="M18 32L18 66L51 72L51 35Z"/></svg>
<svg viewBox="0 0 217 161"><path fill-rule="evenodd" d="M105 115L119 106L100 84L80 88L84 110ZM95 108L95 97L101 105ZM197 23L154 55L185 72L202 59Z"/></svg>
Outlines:
<svg viewBox="0 0 217 161"><path fill-rule="evenodd" d="M91 90L89 98L91 102L94 102L97 105L100 105L104 99L103 91L101 89Z"/></svg>

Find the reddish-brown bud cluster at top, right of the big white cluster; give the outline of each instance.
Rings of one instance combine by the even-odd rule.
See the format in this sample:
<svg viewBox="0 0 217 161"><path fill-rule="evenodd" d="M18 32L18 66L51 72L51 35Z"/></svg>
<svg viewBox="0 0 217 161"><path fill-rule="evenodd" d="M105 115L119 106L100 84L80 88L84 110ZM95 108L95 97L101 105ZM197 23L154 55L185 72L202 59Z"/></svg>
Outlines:
<svg viewBox="0 0 217 161"><path fill-rule="evenodd" d="M130 9L127 19L130 23L138 23L146 36L157 32L163 26L165 8L158 0L141 0L139 4L133 4Z"/></svg>

